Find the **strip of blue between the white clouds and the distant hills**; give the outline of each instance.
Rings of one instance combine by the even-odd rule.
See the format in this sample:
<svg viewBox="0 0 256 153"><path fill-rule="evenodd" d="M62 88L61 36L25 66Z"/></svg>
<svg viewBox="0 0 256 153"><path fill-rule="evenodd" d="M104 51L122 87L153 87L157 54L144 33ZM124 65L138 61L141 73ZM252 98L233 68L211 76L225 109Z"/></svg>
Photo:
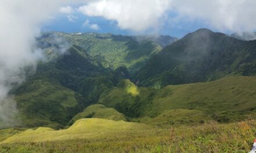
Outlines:
<svg viewBox="0 0 256 153"><path fill-rule="evenodd" d="M72 14L76 17L74 21L69 21L66 14L58 14L51 20L44 23L41 27L42 31L58 31L58 32L99 32L99 33L112 33L122 35L140 35L140 34L152 34L154 30L148 29L143 32L134 32L131 30L123 30L118 27L118 23L115 20L106 20L103 17L90 17L85 16L79 12ZM173 14L169 14L173 16ZM83 23L89 20L91 24L97 24L100 29L93 30L90 27L83 26ZM173 37L181 38L189 32L198 30L198 28L214 28L205 24L204 21L200 20L179 20L176 24L168 23L165 21L159 30L157 31L160 35L170 35ZM215 30L214 30L215 31ZM228 31L227 31L228 32ZM153 32L154 33L154 32Z"/></svg>

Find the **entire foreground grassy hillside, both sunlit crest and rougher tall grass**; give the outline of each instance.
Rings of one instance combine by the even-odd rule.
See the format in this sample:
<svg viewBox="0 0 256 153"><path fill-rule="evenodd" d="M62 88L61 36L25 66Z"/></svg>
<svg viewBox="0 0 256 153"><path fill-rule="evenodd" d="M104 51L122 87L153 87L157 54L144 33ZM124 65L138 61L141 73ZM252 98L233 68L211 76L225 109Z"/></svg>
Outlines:
<svg viewBox="0 0 256 153"><path fill-rule="evenodd" d="M0 152L248 152L256 137L254 120L169 129L97 120L81 119L67 130L27 130L1 141Z"/></svg>

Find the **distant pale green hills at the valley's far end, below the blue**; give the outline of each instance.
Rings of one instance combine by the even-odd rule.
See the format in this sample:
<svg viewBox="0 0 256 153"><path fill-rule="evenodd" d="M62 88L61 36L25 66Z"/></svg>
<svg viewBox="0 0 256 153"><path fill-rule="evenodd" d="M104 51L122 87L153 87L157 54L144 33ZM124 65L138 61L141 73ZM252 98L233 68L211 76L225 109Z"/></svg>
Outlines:
<svg viewBox="0 0 256 153"><path fill-rule="evenodd" d="M51 48L59 42L80 46L87 50L91 57L101 61L105 68L115 70L120 66L125 66L131 73L138 71L145 61L162 49L162 46L169 45L174 41L176 41L176 38L168 36L131 37L112 34L69 34L61 32L45 33L38 38L40 45L45 43L54 44ZM63 44L65 45L65 43Z"/></svg>

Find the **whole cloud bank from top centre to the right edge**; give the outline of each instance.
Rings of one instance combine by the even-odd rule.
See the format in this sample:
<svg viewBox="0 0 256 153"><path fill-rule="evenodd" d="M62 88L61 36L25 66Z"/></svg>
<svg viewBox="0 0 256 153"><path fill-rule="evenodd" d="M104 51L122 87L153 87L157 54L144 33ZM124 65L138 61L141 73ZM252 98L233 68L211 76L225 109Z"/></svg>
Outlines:
<svg viewBox="0 0 256 153"><path fill-rule="evenodd" d="M98 0L78 10L86 16L114 20L125 30L145 31L163 24L180 26L182 20L200 19L216 30L239 32L256 30L255 6L255 0Z"/></svg>

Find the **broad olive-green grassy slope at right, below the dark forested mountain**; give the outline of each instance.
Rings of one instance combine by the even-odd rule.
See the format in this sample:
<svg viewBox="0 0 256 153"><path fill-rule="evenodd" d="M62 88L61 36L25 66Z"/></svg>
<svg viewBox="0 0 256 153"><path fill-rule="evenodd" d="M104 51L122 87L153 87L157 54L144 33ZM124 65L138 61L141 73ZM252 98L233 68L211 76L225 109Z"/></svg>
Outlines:
<svg viewBox="0 0 256 153"><path fill-rule="evenodd" d="M200 123L209 119L231 122L256 115L255 86L256 77L227 77L163 89L136 87L135 96L127 92L127 86L120 86L98 103L154 125Z"/></svg>

